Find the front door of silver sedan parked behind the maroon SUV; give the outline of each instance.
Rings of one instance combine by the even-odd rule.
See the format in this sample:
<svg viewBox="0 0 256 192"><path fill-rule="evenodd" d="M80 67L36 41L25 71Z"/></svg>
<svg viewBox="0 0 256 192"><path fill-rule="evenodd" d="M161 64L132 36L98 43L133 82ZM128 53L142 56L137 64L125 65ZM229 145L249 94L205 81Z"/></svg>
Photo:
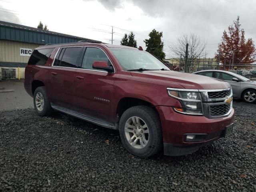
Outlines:
<svg viewBox="0 0 256 192"><path fill-rule="evenodd" d="M214 75L216 76L216 78L228 82L232 86L233 96L235 98L239 97L241 82L233 81L232 78L234 78L235 76L224 72L214 72Z"/></svg>

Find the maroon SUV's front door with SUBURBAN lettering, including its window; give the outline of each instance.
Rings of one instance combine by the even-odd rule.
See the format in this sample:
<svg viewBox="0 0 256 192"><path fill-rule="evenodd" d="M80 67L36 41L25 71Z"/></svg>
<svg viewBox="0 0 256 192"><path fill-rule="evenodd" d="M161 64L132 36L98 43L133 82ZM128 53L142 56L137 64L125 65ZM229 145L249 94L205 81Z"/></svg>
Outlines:
<svg viewBox="0 0 256 192"><path fill-rule="evenodd" d="M109 66L112 65L102 48L84 48L80 66L76 70L74 107L78 112L110 122L115 74L93 69L94 61L106 61Z"/></svg>

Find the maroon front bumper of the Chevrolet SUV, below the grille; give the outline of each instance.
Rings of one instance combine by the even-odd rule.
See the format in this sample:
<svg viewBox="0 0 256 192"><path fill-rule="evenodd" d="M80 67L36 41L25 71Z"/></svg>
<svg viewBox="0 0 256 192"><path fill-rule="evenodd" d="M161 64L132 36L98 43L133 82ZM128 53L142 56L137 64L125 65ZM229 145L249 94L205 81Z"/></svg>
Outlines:
<svg viewBox="0 0 256 192"><path fill-rule="evenodd" d="M164 154L180 156L197 151L224 136L226 126L234 122L234 109L222 118L209 119L205 116L190 116L174 112L172 107L157 106L162 124ZM203 141L187 142L186 134L204 134Z"/></svg>

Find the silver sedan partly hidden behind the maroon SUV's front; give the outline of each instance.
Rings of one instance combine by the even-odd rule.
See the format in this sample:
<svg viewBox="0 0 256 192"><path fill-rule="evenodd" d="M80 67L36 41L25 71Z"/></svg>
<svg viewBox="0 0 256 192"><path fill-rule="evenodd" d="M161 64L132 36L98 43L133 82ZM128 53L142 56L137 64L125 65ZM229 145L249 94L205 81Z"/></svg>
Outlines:
<svg viewBox="0 0 256 192"><path fill-rule="evenodd" d="M242 98L245 102L256 102L256 81L229 71L222 70L203 70L194 74L213 77L228 82L232 86L233 97Z"/></svg>

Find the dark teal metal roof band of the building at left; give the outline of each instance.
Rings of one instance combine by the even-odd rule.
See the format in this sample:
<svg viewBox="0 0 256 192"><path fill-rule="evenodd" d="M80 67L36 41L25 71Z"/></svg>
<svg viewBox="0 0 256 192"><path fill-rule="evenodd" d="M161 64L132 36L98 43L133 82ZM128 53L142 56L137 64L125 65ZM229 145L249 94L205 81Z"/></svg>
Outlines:
<svg viewBox="0 0 256 192"><path fill-rule="evenodd" d="M70 43L77 42L79 40L96 41L4 21L0 21L0 39L42 45L48 43Z"/></svg>

